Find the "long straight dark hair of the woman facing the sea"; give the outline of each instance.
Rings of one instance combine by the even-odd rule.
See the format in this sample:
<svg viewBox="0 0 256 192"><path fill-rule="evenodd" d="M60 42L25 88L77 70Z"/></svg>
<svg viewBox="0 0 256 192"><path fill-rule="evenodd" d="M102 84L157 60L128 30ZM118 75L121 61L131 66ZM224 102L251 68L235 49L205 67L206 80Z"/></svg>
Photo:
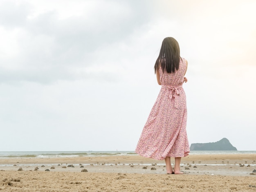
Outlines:
<svg viewBox="0 0 256 192"><path fill-rule="evenodd" d="M155 62L155 73L162 67L162 71L174 73L180 66L180 46L179 43L172 37L164 38L160 49L159 56Z"/></svg>

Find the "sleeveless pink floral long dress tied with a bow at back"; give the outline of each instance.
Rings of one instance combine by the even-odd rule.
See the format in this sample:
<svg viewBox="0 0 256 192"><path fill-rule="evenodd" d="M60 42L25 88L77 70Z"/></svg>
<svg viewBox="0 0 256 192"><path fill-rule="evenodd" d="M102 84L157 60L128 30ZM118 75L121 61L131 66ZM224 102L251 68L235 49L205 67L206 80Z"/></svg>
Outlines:
<svg viewBox="0 0 256 192"><path fill-rule="evenodd" d="M180 58L175 73L163 73L159 67L162 88L142 130L135 150L137 154L157 160L189 154L186 94L182 88L185 71L184 58Z"/></svg>

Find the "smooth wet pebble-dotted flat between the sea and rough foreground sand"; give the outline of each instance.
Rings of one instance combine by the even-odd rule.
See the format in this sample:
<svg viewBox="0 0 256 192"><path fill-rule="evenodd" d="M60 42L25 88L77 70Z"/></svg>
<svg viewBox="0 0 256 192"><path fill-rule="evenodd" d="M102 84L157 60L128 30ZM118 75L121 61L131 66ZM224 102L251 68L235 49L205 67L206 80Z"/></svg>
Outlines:
<svg viewBox="0 0 256 192"><path fill-rule="evenodd" d="M171 158L171 163L173 165L174 158ZM67 167L68 165L74 167ZM82 169L87 169L88 172L99 173L165 174L164 165L164 160L139 155L0 159L0 170L3 171L17 171L19 168L34 171L38 167L38 171L49 169L51 172L81 172ZM248 176L256 170L256 154L191 154L182 158L181 170L195 175Z"/></svg>

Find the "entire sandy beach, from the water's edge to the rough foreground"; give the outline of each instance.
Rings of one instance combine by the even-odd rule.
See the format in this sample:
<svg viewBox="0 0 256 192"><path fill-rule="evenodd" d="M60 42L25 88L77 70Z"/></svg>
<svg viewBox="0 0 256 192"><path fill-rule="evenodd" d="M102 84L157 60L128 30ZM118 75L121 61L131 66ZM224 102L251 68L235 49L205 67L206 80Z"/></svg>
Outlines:
<svg viewBox="0 0 256 192"><path fill-rule="evenodd" d="M141 156L6 158L0 191L256 191L256 154L191 154L181 170Z"/></svg>

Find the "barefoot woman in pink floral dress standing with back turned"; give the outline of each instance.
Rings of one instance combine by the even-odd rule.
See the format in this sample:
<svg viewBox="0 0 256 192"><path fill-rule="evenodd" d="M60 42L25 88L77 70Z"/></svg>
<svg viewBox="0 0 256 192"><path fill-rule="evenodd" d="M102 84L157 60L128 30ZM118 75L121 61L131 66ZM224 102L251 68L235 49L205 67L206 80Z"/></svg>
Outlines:
<svg viewBox="0 0 256 192"><path fill-rule="evenodd" d="M180 57L178 42L167 37L155 62L157 82L162 85L155 105L143 128L135 152L144 157L165 160L167 174L182 174L181 158L189 154L186 134L186 95L188 62ZM175 158L174 170L171 157Z"/></svg>

